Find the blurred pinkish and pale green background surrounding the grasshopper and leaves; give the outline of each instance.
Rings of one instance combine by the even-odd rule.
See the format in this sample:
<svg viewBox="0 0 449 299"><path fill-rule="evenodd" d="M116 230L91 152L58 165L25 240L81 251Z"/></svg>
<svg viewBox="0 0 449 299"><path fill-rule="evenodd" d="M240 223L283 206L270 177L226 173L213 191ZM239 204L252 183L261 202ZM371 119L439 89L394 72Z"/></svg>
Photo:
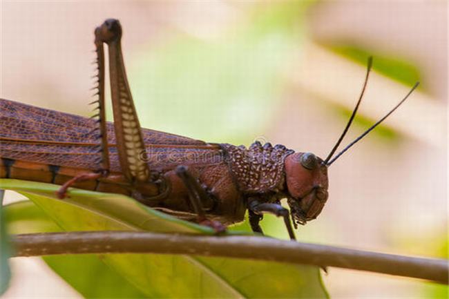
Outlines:
<svg viewBox="0 0 449 299"><path fill-rule="evenodd" d="M447 257L446 2L2 1L1 17L1 97L92 114L93 29L115 17L142 126L209 142L258 139L321 157L343 130L373 55L343 144L414 81L421 87L329 168L329 202L298 238ZM6 201L16 198L8 193ZM276 218L262 226L287 236ZM12 271L1 298L79 296L40 260L17 258ZM333 298L445 298L448 291L340 269L324 280Z"/></svg>

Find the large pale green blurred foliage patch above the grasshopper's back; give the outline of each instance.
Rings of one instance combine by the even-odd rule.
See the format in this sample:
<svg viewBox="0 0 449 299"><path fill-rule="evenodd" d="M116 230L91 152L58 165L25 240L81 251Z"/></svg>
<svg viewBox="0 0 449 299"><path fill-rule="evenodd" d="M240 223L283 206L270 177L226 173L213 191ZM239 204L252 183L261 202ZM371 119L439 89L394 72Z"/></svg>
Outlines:
<svg viewBox="0 0 449 299"><path fill-rule="evenodd" d="M142 125L209 142L248 144L272 117L280 70L300 50L309 1L254 5L219 37L170 32L133 55Z"/></svg>

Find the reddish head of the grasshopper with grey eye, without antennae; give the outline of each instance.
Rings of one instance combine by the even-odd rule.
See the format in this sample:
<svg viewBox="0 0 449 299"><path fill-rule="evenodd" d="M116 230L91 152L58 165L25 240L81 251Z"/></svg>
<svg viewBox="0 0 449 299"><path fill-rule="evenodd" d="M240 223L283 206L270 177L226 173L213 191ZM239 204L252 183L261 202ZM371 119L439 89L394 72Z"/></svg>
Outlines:
<svg viewBox="0 0 449 299"><path fill-rule="evenodd" d="M285 159L288 204L295 224L314 220L327 200L327 165L312 153L294 153Z"/></svg>

